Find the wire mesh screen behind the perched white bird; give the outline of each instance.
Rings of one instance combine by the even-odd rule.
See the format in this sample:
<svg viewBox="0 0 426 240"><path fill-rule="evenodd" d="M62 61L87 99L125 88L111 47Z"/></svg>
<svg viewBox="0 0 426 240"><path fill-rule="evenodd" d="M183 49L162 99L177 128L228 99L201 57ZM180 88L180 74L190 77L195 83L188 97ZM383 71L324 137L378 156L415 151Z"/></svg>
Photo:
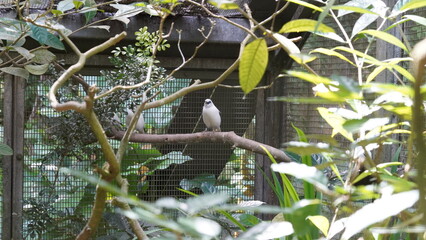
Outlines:
<svg viewBox="0 0 426 240"><path fill-rule="evenodd" d="M106 87L103 77L86 76L85 80ZM191 82L171 81L162 94L175 92ZM95 186L60 169L66 167L92 175L93 167L104 163L100 146L85 126L85 119L78 113L57 113L50 108L46 98L50 84L48 78L31 78L26 88L24 239L74 239L90 215ZM81 87L71 86L69 92L58 94L58 98L82 94ZM206 98L211 98L221 111L222 131L253 138L254 96L243 100L240 90L227 88L198 91L144 111L146 134L204 131L201 110ZM107 113L107 118L118 130L125 130L125 109L135 109L136 103L137 99L119 102L123 111ZM110 126L104 126L108 132ZM110 142L116 150L119 141ZM224 191L235 201L254 198L254 154L224 144L130 143L122 162L122 175L129 181L130 193L148 201L165 196L188 197L177 188L196 193ZM108 200L112 197L108 196ZM128 229L123 217L107 204L96 239L118 236ZM128 236L131 239L131 233Z"/></svg>

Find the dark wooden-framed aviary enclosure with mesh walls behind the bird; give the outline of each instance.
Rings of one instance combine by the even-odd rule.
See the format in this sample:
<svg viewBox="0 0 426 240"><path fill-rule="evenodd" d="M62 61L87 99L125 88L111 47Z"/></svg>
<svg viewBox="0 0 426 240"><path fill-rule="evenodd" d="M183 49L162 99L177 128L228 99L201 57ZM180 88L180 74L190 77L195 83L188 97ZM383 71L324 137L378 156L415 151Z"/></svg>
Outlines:
<svg viewBox="0 0 426 240"><path fill-rule="evenodd" d="M269 16L274 11L274 1L269 2L248 2L253 9L253 16L257 19ZM2 14L13 18L15 12L8 7L3 9ZM36 4L31 9L37 11L45 7ZM247 21L235 12L219 13L232 16L232 21L248 26ZM98 15L99 18L103 17L100 13ZM278 27L291 19L313 16L310 10L290 5L275 24ZM70 15L63 19L63 24L77 29L84 21L82 16ZM179 66L179 51L186 56L191 55L195 46L203 41L194 26L211 26L205 16L178 14L166 22L165 32L171 22L174 22L174 29L182 30L182 35L179 37L176 31L172 31L168 39L172 48L159 57L161 67L166 70ZM134 43L133 34L139 28L148 26L156 30L159 23L155 17L137 15L127 26L116 21L109 24L111 31L108 34L100 29L86 29L73 34L71 39L81 51L85 51L126 31L128 37L120 43L125 46ZM216 20L206 46L200 49L197 58L175 75L175 80L164 86L164 94L185 87L195 79L207 82L217 78L238 56L239 44L245 35L241 29ZM297 44L302 46L304 39ZM181 50L176 47L178 40ZM100 70L112 68L109 56L110 50L87 62L80 72L86 82L100 88L107 87ZM267 73L263 83L265 85L273 80L276 73L290 66L290 59L281 51L271 57L274 59L272 61L280 64L274 65ZM76 61L70 53L57 53L57 59L63 59L65 67ZM102 163L102 154L87 132L81 130L81 124L84 124L82 118L81 123L74 121L74 124L67 126L72 122L70 119L78 120L78 117L72 113L58 114L50 108L46 99L49 83L49 76L31 77L28 81L11 75L4 77L3 136L5 143L14 149L14 155L3 158L2 239L72 239L82 229L90 213L94 186L64 175L59 169L69 167L89 173L94 164ZM238 74L231 74L224 84L238 85ZM210 98L221 110L222 131L234 131L240 136L279 147L281 137L277 129L281 129L281 121L274 114L280 111L280 104L267 101L268 97L276 94L276 89L259 90L244 96L239 88L220 86L188 94L162 108L145 111L147 134L203 131L205 127L201 121L201 109L204 99ZM79 91L82 92L81 87L77 87L76 92ZM129 100L123 101L123 107L133 108L135 104ZM124 128L121 125L124 125L125 113L113 112L110 113L111 117L114 113L121 122L119 128ZM265 124L267 122L272 124ZM135 143L129 146L122 167L123 176L130 182L130 192L144 200L163 196L184 198L187 195L178 191L178 187L200 191L205 187L200 185L207 183L206 186L211 185L218 191L227 192L235 201L257 199L274 203L263 177L265 172L268 174L269 165L270 160L263 155L233 149L224 144ZM108 211L98 236L110 234L107 229L112 228L126 231L120 221L122 219L118 214Z"/></svg>

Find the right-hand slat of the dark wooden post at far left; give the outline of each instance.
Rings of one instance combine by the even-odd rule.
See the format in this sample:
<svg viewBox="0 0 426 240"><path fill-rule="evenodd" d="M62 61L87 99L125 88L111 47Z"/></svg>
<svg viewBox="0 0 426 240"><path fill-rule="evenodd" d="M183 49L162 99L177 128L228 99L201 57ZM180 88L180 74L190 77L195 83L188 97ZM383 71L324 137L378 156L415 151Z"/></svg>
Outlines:
<svg viewBox="0 0 426 240"><path fill-rule="evenodd" d="M22 239L22 188L24 161L25 79L15 77L13 102L12 239Z"/></svg>

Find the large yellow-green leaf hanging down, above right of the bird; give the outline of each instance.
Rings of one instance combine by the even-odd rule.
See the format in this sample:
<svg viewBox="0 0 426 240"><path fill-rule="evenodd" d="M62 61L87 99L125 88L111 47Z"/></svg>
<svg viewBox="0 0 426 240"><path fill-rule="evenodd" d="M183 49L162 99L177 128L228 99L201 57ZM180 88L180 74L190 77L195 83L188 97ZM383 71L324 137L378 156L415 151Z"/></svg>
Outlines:
<svg viewBox="0 0 426 240"><path fill-rule="evenodd" d="M245 46L239 67L240 85L245 94L259 84L267 65L268 47L265 39L256 39Z"/></svg>

